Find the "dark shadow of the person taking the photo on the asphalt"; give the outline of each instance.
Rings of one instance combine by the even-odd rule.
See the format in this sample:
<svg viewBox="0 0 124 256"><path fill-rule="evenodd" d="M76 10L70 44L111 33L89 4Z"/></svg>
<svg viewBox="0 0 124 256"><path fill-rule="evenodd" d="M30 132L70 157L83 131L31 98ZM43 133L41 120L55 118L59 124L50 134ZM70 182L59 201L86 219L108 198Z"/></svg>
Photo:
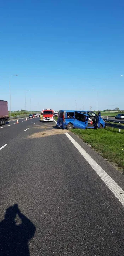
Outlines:
<svg viewBox="0 0 124 256"><path fill-rule="evenodd" d="M17 204L7 208L0 222L0 256L30 256L28 242L35 231L34 224L20 212Z"/></svg>

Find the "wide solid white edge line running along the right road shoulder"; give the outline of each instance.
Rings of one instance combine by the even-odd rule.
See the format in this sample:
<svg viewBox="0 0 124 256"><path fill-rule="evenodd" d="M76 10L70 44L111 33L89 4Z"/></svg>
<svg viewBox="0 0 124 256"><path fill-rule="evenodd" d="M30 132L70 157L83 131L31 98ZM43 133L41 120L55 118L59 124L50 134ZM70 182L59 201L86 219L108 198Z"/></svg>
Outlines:
<svg viewBox="0 0 124 256"><path fill-rule="evenodd" d="M98 174L98 176L105 182L106 186L111 190L115 197L120 201L120 203L124 206L124 190L101 168L100 165L95 162L91 156L86 153L86 151L81 148L81 146L68 134L65 133L69 140L73 143L75 148L78 149L80 154L85 158L85 160L90 164L92 169Z"/></svg>

